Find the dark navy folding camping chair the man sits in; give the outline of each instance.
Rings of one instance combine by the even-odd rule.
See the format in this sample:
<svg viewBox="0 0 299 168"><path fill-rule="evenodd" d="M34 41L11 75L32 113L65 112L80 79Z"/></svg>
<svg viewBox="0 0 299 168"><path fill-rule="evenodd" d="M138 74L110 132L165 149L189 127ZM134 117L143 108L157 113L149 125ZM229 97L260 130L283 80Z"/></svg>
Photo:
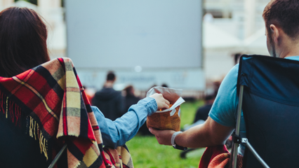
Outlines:
<svg viewBox="0 0 299 168"><path fill-rule="evenodd" d="M237 166L241 143L246 144L243 167L299 167L299 62L243 55L237 87L239 106L230 167ZM246 138L239 137L241 110Z"/></svg>

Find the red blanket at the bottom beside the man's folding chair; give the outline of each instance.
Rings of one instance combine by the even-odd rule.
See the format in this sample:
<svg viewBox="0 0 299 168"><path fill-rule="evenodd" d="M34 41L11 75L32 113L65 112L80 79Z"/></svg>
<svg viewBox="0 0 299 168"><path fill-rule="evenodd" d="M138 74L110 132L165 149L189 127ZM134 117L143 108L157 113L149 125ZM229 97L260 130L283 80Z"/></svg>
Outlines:
<svg viewBox="0 0 299 168"><path fill-rule="evenodd" d="M206 148L199 162L199 168L228 168L230 164L230 153L225 145L211 146ZM237 167L243 165L243 156L237 156Z"/></svg>

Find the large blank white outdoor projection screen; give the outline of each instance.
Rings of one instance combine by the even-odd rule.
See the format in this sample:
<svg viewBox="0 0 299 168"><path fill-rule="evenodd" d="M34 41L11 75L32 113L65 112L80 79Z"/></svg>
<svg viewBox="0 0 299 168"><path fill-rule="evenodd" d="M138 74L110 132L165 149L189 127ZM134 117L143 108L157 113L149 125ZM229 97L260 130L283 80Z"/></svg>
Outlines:
<svg viewBox="0 0 299 168"><path fill-rule="evenodd" d="M201 0L66 0L77 68L200 68Z"/></svg>

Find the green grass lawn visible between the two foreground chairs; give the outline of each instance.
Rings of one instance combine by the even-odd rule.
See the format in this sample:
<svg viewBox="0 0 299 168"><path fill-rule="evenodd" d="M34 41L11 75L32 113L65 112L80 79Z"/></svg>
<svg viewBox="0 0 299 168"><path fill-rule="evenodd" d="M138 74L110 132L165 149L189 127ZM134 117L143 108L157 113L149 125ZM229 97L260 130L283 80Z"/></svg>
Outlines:
<svg viewBox="0 0 299 168"><path fill-rule="evenodd" d="M202 101L182 104L181 127L193 122L197 108L202 105ZM204 148L201 148L188 153L187 159L181 159L180 150L174 149L172 146L159 145L154 136L141 137L137 135L128 141L126 145L136 168L198 167L201 155L204 153Z"/></svg>

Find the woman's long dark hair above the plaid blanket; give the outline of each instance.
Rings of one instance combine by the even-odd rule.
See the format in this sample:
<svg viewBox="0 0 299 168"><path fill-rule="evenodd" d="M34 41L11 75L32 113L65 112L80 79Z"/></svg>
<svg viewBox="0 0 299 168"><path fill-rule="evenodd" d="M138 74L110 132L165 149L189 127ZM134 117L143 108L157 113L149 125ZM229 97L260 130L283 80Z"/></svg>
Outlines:
<svg viewBox="0 0 299 168"><path fill-rule="evenodd" d="M0 13L0 76L18 75L50 60L47 29L32 9L11 7Z"/></svg>

